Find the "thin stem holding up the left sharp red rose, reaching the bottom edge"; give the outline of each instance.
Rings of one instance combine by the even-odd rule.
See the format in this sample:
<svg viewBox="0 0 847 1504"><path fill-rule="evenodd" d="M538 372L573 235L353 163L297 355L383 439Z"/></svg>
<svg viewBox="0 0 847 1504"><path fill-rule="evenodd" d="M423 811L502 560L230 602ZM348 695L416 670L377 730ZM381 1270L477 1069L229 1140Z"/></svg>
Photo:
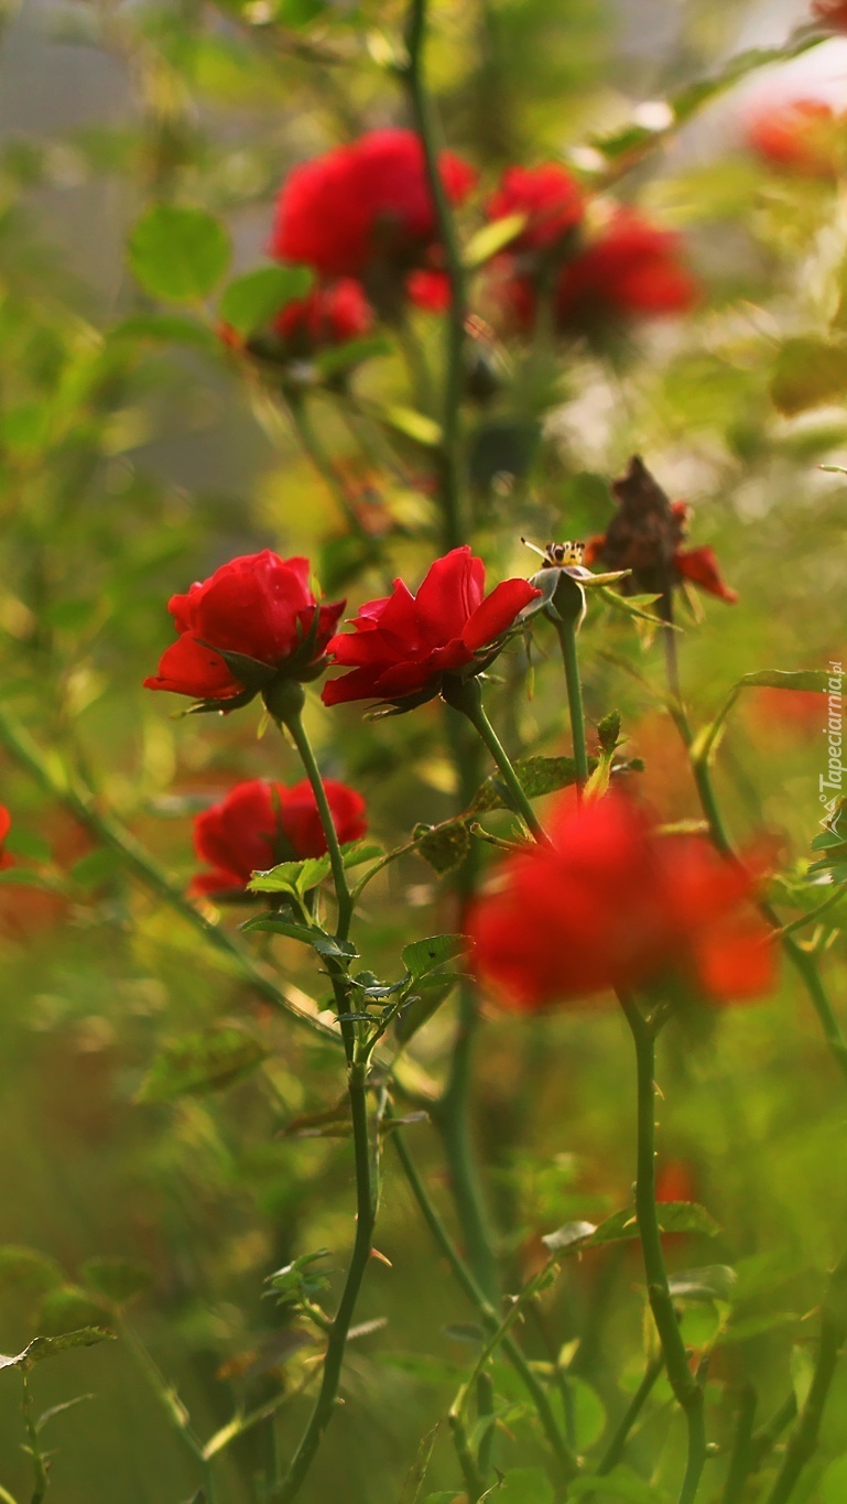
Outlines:
<svg viewBox="0 0 847 1504"><path fill-rule="evenodd" d="M338 845L338 835L326 800L323 779L320 778L320 770L317 767L314 752L311 750L311 743L305 734L301 711L289 711L284 719L284 725L287 726L296 746L317 803L317 812L320 815L320 824L323 827L323 836L326 839L326 848L332 866L332 880L335 884L335 899L338 905L335 938L346 940L351 929L354 904L345 869L345 857ZM342 1379L345 1351L364 1272L370 1262L373 1229L376 1224L378 1191L375 1184L370 1128L367 1119L369 1066L367 1060L360 1059L357 1054L355 1023L349 1020L345 1023L345 1014L351 1012L349 984L345 972L340 964L334 964L329 967L329 973L332 979L332 990L335 993L342 1033L345 1036L345 1048L348 1053L348 1098L351 1104L357 1176L357 1233L342 1301L332 1322L329 1324L329 1336L326 1342L326 1352L323 1355L323 1372L317 1399L287 1472L278 1484L271 1487L268 1493L268 1504L290 1504L290 1501L296 1498L305 1481L308 1469L311 1468L320 1441L323 1439L323 1432L326 1430L338 1403L338 1384Z"/></svg>

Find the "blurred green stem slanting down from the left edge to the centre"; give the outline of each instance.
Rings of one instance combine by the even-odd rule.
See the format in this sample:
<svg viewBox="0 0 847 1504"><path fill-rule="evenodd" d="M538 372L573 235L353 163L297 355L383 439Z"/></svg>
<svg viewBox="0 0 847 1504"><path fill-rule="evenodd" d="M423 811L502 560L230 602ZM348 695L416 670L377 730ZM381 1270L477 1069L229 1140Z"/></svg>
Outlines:
<svg viewBox="0 0 847 1504"><path fill-rule="evenodd" d="M253 960L248 951L244 951L241 945L221 929L220 925L212 923L200 911L200 908L193 904L185 893L170 881L167 874L153 860L149 851L135 841L128 830L125 830L117 820L111 815L104 814L96 808L93 796L87 791L77 788L63 773L63 770L54 770L51 760L36 746L29 732L20 726L5 710L0 707L0 743L6 747L9 755L30 773L35 781L45 790L53 799L65 805L69 814L77 820L84 829L104 847L117 853L123 865L132 872L134 877L143 883L156 898L168 905L175 913L178 913L187 923L196 929L199 934L208 940L215 951L229 957L238 964L238 970L245 982L259 993L265 1002L274 1003L277 1008L283 1008L289 1012L298 1023L304 1024L322 1038L335 1038L332 1029L326 1029L323 1024L307 1014L302 1006L287 996L284 987L280 987L262 967Z"/></svg>

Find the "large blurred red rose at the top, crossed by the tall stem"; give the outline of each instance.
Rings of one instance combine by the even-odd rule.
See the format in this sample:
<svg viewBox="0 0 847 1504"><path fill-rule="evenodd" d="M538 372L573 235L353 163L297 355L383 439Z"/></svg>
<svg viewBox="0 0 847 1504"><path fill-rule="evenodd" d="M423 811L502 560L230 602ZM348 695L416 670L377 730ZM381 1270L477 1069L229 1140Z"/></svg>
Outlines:
<svg viewBox="0 0 847 1504"><path fill-rule="evenodd" d="M462 203L474 170L451 152L441 152L439 170L450 202ZM289 173L271 254L320 277L363 277L372 263L406 272L427 263L436 236L418 135L370 131Z"/></svg>

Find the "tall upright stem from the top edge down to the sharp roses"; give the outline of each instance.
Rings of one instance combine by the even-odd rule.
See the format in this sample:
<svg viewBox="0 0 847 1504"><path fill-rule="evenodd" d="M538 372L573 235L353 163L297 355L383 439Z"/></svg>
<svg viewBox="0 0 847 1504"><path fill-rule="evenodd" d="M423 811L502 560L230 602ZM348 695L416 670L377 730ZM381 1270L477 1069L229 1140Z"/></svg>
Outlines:
<svg viewBox="0 0 847 1504"><path fill-rule="evenodd" d="M444 248L444 263L450 281L450 307L445 317L444 393L441 420L441 501L445 523L447 547L463 541L462 525L462 468L460 468L460 408L465 356L466 289L462 248L456 233L456 221L444 190L438 167L436 123L423 77L423 53L427 30L427 0L411 0L406 18L406 63L402 77L409 95L412 119L421 140L426 177L438 236Z"/></svg>

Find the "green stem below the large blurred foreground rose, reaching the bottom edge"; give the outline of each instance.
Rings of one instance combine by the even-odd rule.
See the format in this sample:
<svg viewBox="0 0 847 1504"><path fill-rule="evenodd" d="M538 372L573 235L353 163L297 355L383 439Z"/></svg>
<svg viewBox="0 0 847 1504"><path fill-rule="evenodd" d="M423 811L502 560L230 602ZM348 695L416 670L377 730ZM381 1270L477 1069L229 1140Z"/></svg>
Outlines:
<svg viewBox="0 0 847 1504"><path fill-rule="evenodd" d="M679 1504L694 1504L706 1462L706 1424L703 1414L703 1390L688 1366L688 1352L677 1322L677 1313L668 1287L665 1254L656 1214L656 1036L651 1024L639 1014L636 1005L623 993L620 1003L635 1044L638 1074L638 1151L635 1212L647 1277L647 1296L671 1388L685 1412L688 1424L688 1463L679 1495Z"/></svg>

